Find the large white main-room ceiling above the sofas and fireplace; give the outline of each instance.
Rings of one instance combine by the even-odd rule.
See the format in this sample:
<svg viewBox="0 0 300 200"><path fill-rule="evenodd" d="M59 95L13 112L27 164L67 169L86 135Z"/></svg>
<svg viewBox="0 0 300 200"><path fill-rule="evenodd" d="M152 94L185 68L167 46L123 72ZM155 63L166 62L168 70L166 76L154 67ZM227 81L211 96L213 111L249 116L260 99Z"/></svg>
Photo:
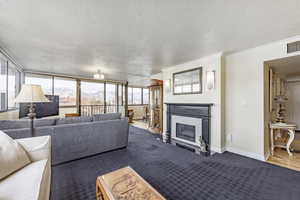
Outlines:
<svg viewBox="0 0 300 200"><path fill-rule="evenodd" d="M0 0L0 46L28 70L145 84L162 68L300 33L299 0Z"/></svg>

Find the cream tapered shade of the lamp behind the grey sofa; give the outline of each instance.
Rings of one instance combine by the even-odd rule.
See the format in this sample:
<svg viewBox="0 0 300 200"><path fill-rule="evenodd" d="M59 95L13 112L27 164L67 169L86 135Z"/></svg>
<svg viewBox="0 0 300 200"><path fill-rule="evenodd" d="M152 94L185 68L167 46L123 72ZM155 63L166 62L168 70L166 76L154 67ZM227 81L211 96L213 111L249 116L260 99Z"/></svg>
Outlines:
<svg viewBox="0 0 300 200"><path fill-rule="evenodd" d="M40 85L22 85L22 89L15 99L16 103L41 103L50 102L44 95Z"/></svg>

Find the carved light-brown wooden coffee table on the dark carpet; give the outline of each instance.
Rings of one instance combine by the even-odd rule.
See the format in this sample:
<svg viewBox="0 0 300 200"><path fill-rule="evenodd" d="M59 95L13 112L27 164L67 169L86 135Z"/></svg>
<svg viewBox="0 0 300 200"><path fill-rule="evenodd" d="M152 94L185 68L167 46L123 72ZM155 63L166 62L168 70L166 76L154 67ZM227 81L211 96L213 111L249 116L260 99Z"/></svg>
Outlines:
<svg viewBox="0 0 300 200"><path fill-rule="evenodd" d="M97 200L165 200L131 167L99 176L96 196Z"/></svg>

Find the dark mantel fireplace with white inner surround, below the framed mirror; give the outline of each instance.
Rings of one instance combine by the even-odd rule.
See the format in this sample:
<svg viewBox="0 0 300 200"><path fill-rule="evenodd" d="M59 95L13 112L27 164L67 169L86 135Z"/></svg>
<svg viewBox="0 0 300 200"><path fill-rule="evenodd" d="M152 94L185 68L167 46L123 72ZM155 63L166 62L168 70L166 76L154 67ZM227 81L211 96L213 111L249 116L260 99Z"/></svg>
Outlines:
<svg viewBox="0 0 300 200"><path fill-rule="evenodd" d="M210 155L210 113L213 104L165 104L167 105L167 127L164 141L196 153ZM205 144L205 153L200 151L200 139Z"/></svg>

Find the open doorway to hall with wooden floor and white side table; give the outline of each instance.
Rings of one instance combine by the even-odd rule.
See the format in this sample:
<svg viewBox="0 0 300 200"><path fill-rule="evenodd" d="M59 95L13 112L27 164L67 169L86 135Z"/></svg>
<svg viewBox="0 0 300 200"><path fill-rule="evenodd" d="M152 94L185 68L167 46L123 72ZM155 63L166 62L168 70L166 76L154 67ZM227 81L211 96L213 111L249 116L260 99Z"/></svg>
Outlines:
<svg viewBox="0 0 300 200"><path fill-rule="evenodd" d="M300 171L300 56L265 62L264 75L267 161Z"/></svg>

